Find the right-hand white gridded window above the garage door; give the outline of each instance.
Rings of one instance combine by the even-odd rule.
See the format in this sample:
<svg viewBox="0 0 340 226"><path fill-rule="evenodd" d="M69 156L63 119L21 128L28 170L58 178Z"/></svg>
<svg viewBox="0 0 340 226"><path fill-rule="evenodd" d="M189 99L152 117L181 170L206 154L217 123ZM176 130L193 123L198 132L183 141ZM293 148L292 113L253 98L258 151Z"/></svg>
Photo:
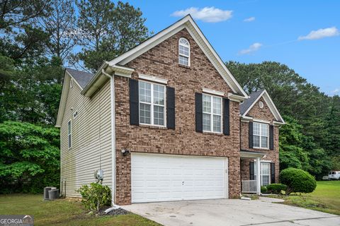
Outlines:
<svg viewBox="0 0 340 226"><path fill-rule="evenodd" d="M202 95L203 131L221 133L222 131L222 98Z"/></svg>

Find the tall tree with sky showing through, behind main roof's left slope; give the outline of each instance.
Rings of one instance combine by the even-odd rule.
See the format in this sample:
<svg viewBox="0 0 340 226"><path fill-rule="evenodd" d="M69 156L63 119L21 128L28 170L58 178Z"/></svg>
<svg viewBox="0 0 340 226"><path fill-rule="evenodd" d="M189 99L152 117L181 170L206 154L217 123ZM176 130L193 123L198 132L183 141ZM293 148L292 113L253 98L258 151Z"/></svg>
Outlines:
<svg viewBox="0 0 340 226"><path fill-rule="evenodd" d="M83 61L91 71L149 37L140 8L121 1L115 6L110 0L80 0L77 6L82 48L72 58Z"/></svg>

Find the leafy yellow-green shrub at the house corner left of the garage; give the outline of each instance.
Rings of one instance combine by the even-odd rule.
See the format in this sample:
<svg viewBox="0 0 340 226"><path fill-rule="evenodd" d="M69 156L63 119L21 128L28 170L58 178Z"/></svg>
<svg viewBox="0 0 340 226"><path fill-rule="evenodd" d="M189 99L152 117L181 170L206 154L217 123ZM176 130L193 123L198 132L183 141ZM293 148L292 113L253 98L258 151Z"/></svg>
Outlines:
<svg viewBox="0 0 340 226"><path fill-rule="evenodd" d="M106 185L91 183L78 190L83 197L81 203L86 209L98 212L104 206L111 206L111 189Z"/></svg>

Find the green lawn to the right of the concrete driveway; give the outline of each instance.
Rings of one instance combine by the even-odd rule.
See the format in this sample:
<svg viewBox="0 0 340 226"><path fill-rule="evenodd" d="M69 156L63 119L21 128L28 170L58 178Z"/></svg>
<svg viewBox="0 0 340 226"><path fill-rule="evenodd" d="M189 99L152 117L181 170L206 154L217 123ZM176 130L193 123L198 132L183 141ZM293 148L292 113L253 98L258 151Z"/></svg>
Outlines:
<svg viewBox="0 0 340 226"><path fill-rule="evenodd" d="M310 194L291 194L284 204L340 215L340 181L317 182Z"/></svg>

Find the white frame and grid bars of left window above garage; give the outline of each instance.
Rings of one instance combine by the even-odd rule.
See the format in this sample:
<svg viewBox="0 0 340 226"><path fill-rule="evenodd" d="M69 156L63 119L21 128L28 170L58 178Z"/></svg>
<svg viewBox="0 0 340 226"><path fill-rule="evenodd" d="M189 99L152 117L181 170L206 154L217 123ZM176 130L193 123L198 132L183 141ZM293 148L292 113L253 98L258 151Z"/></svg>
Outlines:
<svg viewBox="0 0 340 226"><path fill-rule="evenodd" d="M149 83L151 84L151 102L142 102L140 101L140 82L143 83ZM163 105L157 105L154 104L154 85L160 85L164 87L164 106ZM141 123L140 125L144 125L144 126L157 126L157 127L162 127L162 128L166 128L166 85L161 84L161 83L152 83L150 81L145 81L145 80L138 80L138 120L140 121L140 104L145 104L145 105L151 105L150 107L150 124L147 123ZM159 106L159 107L164 107L164 124L163 125L159 125L159 124L154 124L154 105Z"/></svg>

